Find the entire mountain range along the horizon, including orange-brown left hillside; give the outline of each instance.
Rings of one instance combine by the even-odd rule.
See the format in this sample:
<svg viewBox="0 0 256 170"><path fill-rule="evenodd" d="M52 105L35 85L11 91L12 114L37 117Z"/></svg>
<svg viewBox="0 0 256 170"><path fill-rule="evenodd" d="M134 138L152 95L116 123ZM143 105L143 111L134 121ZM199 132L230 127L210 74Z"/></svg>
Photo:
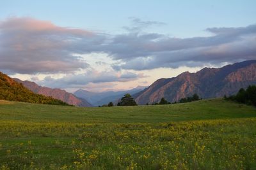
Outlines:
<svg viewBox="0 0 256 170"><path fill-rule="evenodd" d="M195 93L202 98L230 96L241 88L246 89L248 85L255 84L256 60L237 62L221 68L205 67L196 73L184 72L173 78L161 78L149 87L118 92L89 92L79 89L71 94L61 89L42 87L33 81L10 78L0 72L0 99L45 104L68 103L87 107L101 106L110 101L116 103L124 94L129 93L137 104L152 104L158 103L162 97L175 102Z"/></svg>

